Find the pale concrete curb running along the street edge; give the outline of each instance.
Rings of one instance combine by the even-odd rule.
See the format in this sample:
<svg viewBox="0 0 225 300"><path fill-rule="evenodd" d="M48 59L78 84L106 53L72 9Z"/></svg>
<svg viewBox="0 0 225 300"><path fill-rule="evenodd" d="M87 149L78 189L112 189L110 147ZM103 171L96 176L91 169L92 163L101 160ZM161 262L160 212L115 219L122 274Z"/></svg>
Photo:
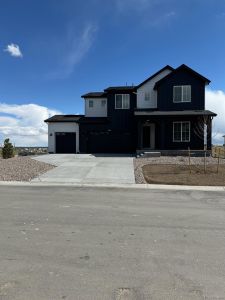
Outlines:
<svg viewBox="0 0 225 300"><path fill-rule="evenodd" d="M24 187L74 187L74 188L117 188L117 189L143 189L143 190L176 190L176 191L211 191L225 192L225 186L189 186L189 185L163 185L163 184L89 184L89 183L63 183L63 182L23 182L0 181L0 186Z"/></svg>

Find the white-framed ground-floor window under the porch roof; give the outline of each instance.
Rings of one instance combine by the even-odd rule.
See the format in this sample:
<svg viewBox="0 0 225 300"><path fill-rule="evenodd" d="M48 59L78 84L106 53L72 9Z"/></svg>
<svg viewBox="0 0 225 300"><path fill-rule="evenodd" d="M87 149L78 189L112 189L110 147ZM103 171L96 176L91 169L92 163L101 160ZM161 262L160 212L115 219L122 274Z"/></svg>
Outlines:
<svg viewBox="0 0 225 300"><path fill-rule="evenodd" d="M173 122L173 141L190 142L190 122Z"/></svg>

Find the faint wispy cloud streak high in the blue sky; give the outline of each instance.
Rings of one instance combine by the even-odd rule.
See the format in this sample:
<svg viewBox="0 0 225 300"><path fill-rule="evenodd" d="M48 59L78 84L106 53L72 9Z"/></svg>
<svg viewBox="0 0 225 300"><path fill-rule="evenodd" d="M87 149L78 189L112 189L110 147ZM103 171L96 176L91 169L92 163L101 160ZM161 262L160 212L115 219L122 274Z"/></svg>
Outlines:
<svg viewBox="0 0 225 300"><path fill-rule="evenodd" d="M60 51L59 69L47 75L48 79L66 78L71 75L74 68L87 55L96 37L98 27L87 24L80 34L70 26L63 49ZM63 53L63 54L62 54Z"/></svg>

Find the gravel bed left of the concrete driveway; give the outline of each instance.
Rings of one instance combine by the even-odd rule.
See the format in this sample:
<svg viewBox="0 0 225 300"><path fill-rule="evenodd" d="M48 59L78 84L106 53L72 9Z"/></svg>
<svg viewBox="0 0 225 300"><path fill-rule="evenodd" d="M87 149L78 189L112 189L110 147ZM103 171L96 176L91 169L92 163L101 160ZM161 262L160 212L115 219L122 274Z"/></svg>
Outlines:
<svg viewBox="0 0 225 300"><path fill-rule="evenodd" d="M0 181L30 181L53 168L29 157L0 158Z"/></svg>

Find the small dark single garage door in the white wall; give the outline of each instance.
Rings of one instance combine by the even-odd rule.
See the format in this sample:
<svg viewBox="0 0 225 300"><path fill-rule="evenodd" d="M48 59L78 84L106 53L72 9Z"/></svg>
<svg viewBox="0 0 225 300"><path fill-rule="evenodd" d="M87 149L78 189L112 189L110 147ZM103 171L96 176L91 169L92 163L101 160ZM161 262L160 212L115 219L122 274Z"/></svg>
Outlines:
<svg viewBox="0 0 225 300"><path fill-rule="evenodd" d="M76 153L76 133L56 132L56 153Z"/></svg>

